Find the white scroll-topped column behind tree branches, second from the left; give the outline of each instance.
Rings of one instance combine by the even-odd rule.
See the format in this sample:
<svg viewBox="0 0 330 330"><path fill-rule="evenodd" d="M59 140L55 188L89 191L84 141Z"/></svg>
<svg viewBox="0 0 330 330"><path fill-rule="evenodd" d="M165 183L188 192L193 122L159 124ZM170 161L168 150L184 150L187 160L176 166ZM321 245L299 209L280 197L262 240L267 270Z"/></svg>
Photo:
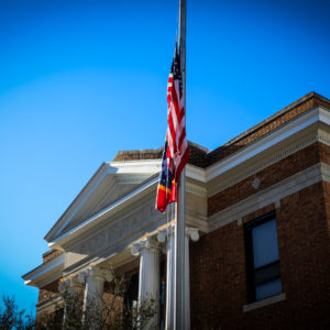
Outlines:
<svg viewBox="0 0 330 330"><path fill-rule="evenodd" d="M92 307L92 312L101 314L103 308L105 280L111 282L113 279L111 272L96 266L90 266L79 274L78 279L79 282L86 283L84 314L89 305Z"/></svg>

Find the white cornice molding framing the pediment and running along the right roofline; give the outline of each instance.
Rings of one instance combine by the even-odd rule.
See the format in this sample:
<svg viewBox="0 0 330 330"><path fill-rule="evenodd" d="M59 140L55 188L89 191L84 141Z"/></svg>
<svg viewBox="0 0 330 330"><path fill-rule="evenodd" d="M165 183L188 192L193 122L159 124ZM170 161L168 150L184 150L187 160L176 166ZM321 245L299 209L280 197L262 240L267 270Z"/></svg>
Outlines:
<svg viewBox="0 0 330 330"><path fill-rule="evenodd" d="M207 198L208 196L212 196L218 191L234 185L235 183L257 173L262 168L274 164L275 162L288 156L294 152L297 152L300 148L308 146L316 141L321 141L322 143L330 145L329 134L326 132L319 132L318 134L305 138L305 140L296 142L293 146L277 152L275 155L271 155L268 158L263 160L260 163L248 167L246 169L244 168L243 170L241 170L241 173L239 173L240 169L234 169L248 160L252 160L254 157L257 160L257 156L261 153L268 151L275 146L277 147L279 143L284 143L284 141L287 141L293 135L306 130L317 122L330 125L329 110L323 109L320 106L311 109L310 111L299 116L298 118L295 118L293 121L284 124L283 127L279 127L277 130L271 132L270 134L255 141L254 143L249 144L233 155L218 162L207 169L188 164L186 172L187 177L200 183L207 183L208 187L205 188L187 180L186 191ZM97 185L100 184L106 175L112 175L113 180L124 183L125 180L134 180L134 176L135 179L138 179L136 177L141 175L155 174L160 172L160 168L161 160L103 163L96 175L89 180L86 187L72 204L72 206L69 207L70 210L67 210L64 213L65 217L63 216L47 234L46 239L50 242L50 246L62 249L63 244L66 244L68 241L74 240L81 233L89 231L91 228L97 227L105 219L108 219L113 213L120 211L122 208L127 208L132 202L143 198L144 195L141 195L141 193L145 191L151 186L156 186L158 180L158 178L154 176L150 182L145 183L143 186L140 186L136 190L133 190L132 193L125 195L123 198L102 209L97 215L88 218L84 222L73 227L67 232L62 234L62 230L67 226L72 217L74 217L74 215L77 212L78 208L86 201L86 199L90 196L94 189L96 189ZM226 177L226 174L231 169L234 169L237 172L237 175L233 174L233 177L231 176L230 178L228 178L229 176Z"/></svg>

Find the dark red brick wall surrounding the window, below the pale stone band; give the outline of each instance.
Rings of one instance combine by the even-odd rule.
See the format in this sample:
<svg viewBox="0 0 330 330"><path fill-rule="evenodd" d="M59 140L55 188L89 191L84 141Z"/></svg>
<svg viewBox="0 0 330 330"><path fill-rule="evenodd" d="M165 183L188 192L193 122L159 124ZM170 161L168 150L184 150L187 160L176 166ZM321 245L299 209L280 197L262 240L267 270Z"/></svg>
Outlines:
<svg viewBox="0 0 330 330"><path fill-rule="evenodd" d="M330 185L319 183L282 199L276 219L286 300L242 311L243 226L232 222L190 244L193 329L330 329Z"/></svg>

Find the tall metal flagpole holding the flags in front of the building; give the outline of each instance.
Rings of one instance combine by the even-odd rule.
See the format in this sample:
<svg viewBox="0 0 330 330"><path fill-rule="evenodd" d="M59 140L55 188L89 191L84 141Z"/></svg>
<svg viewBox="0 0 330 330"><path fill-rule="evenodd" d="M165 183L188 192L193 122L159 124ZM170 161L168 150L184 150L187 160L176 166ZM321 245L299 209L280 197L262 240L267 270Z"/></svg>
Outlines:
<svg viewBox="0 0 330 330"><path fill-rule="evenodd" d="M186 0L179 4L179 50L183 80L183 102L186 110ZM186 112L187 113L187 112ZM185 119L186 120L186 119ZM186 127L186 124L185 124ZM188 330L185 324L185 191L186 169L184 168L178 183L175 224L175 330ZM188 280L188 279L187 279Z"/></svg>

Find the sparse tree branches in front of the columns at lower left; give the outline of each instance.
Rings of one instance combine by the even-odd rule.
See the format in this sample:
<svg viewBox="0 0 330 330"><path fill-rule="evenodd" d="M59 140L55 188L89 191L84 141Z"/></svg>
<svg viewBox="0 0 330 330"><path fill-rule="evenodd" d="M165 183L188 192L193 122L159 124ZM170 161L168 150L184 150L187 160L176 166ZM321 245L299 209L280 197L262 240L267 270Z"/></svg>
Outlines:
<svg viewBox="0 0 330 330"><path fill-rule="evenodd" d="M89 299L84 310L84 293L64 289L62 302L55 305L51 312L40 315L36 319L20 310L14 298L4 296L4 308L0 308L0 330L158 329L158 324L155 324L157 304L153 299L136 301L133 306L124 304L128 284L123 276L114 278L110 290L105 295L102 309L97 307L97 300Z"/></svg>

